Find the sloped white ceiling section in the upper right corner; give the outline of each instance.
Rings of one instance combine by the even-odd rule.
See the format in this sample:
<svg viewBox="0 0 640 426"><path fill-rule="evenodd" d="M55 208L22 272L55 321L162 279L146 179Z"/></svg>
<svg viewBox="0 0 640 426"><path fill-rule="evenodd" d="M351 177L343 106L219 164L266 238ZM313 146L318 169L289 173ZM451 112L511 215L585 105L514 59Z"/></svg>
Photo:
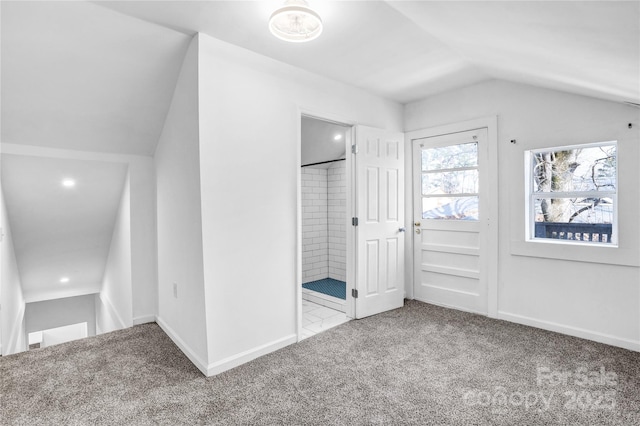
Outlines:
<svg viewBox="0 0 640 426"><path fill-rule="evenodd" d="M640 2L392 2L487 75L640 101Z"/></svg>

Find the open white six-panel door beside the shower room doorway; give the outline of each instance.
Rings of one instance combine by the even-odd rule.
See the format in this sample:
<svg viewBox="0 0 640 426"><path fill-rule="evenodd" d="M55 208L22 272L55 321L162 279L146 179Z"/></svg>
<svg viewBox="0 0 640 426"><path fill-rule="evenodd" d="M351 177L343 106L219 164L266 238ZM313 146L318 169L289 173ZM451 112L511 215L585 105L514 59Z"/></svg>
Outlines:
<svg viewBox="0 0 640 426"><path fill-rule="evenodd" d="M404 134L356 129L356 318L404 304Z"/></svg>

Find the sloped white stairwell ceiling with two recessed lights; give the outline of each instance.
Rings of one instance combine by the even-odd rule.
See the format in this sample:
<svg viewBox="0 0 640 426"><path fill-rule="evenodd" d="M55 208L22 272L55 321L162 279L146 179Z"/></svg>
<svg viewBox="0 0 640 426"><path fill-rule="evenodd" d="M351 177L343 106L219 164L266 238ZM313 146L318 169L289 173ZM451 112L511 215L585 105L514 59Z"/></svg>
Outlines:
<svg viewBox="0 0 640 426"><path fill-rule="evenodd" d="M127 166L3 154L1 168L25 300L99 291Z"/></svg>

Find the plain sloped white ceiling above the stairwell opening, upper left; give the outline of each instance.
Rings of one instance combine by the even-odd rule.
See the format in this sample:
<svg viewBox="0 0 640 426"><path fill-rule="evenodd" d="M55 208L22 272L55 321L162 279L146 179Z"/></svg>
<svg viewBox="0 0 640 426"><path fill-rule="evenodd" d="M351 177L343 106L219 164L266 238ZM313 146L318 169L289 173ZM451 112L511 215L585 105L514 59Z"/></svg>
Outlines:
<svg viewBox="0 0 640 426"><path fill-rule="evenodd" d="M1 7L2 142L153 154L190 37L85 2Z"/></svg>

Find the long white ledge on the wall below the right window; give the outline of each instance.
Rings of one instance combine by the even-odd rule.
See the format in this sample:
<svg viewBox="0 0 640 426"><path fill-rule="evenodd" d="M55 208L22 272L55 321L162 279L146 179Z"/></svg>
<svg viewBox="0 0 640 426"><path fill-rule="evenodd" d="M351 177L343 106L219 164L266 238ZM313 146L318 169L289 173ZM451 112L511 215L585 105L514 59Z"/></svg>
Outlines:
<svg viewBox="0 0 640 426"><path fill-rule="evenodd" d="M514 256L569 260L572 262L602 263L620 266L640 266L638 249L587 243L512 240L510 253Z"/></svg>

